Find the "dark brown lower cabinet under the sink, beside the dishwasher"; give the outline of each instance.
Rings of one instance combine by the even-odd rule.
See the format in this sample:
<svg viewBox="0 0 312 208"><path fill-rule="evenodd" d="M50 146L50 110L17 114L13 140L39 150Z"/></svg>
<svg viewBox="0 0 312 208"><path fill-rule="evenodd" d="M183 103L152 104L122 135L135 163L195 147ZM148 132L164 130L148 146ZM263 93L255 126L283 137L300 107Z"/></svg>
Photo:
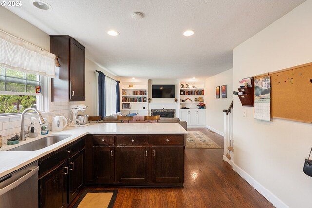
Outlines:
<svg viewBox="0 0 312 208"><path fill-rule="evenodd" d="M84 138L39 161L39 205L66 208L84 186Z"/></svg>

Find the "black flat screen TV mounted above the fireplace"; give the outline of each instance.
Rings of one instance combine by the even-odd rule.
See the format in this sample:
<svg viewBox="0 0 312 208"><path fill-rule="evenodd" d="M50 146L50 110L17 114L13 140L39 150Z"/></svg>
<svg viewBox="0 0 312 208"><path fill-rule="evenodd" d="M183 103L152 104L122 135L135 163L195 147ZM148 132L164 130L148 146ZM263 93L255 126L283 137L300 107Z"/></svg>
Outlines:
<svg viewBox="0 0 312 208"><path fill-rule="evenodd" d="M152 85L152 98L175 98L176 85L153 84Z"/></svg>

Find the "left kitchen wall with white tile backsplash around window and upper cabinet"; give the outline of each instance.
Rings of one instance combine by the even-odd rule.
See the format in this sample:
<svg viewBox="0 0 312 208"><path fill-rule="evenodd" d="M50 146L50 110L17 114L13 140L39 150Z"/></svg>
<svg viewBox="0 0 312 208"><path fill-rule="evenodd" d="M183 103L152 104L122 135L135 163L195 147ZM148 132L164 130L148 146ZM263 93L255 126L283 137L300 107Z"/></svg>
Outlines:
<svg viewBox="0 0 312 208"><path fill-rule="evenodd" d="M42 49L50 51L50 37L48 34L41 31L39 28L21 19L19 16L0 6L0 30L3 30L13 36L28 41ZM54 116L63 115L70 117L70 105L77 103L85 103L88 108L85 114L95 115L95 101L96 101L96 83L95 70L102 71L105 75L117 79L116 76L107 72L105 69L99 67L92 61L86 59L85 66L86 74L86 101L85 102L50 102L49 113L42 113L44 118L49 122L49 129L51 129L51 122ZM51 91L49 90L49 100L51 100ZM37 116L34 116L37 117ZM30 117L26 116L25 128L30 125ZM6 143L7 138L11 138L15 134L20 134L20 115L15 116L1 116L0 117L0 135L3 136L3 143ZM40 125L35 125L35 130L40 133Z"/></svg>

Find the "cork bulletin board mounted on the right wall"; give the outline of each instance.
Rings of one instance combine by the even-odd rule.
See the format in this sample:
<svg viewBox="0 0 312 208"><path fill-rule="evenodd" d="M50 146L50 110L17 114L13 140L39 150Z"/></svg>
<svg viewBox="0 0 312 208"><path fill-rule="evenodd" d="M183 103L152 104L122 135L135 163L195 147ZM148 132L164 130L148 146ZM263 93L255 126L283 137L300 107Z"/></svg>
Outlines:
<svg viewBox="0 0 312 208"><path fill-rule="evenodd" d="M271 116L312 124L312 63L267 73L271 76Z"/></svg>

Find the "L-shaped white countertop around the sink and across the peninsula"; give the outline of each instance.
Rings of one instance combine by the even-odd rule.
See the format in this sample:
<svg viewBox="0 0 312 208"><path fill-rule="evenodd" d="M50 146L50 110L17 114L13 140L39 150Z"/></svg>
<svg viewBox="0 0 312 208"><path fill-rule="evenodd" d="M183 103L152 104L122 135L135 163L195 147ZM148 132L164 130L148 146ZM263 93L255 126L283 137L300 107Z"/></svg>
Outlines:
<svg viewBox="0 0 312 208"><path fill-rule="evenodd" d="M90 123L85 127L68 127L61 132L49 132L48 135L39 134L36 138L27 137L26 141L16 145L2 145L0 148L0 177L18 170L87 134L187 134L187 131L178 123ZM6 151L51 135L71 136L36 151Z"/></svg>

